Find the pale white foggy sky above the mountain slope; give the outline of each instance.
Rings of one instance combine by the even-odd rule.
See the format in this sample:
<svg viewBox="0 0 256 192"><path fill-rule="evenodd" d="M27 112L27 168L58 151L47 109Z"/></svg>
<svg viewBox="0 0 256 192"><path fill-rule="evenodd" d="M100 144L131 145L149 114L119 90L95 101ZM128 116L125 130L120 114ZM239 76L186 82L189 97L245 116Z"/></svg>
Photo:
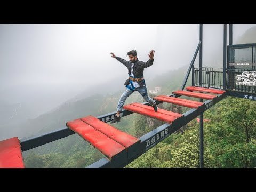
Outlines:
<svg viewBox="0 0 256 192"><path fill-rule="evenodd" d="M252 26L234 25L233 43ZM221 65L223 25L204 25L203 33L203 65ZM26 105L26 118L35 118L81 92L106 92L103 83L111 82L111 92L123 86L117 79L128 75L110 52L129 60L127 52L137 50L138 59L146 62L155 50L153 66L144 71L150 81L189 66L198 42L198 24L0 25L0 107Z"/></svg>

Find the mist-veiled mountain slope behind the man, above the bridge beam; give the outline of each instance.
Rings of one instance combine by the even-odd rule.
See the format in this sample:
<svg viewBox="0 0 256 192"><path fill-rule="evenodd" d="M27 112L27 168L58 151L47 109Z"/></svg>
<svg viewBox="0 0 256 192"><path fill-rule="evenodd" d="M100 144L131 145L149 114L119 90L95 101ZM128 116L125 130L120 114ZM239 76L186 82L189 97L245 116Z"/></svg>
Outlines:
<svg viewBox="0 0 256 192"><path fill-rule="evenodd" d="M160 86L162 88L161 94L171 94L172 91L180 88L186 72L187 67L166 71L166 73L147 81L147 89L154 90L154 87ZM190 79L188 82L190 82ZM111 88L107 85L109 85L109 82L107 82L107 84L102 84L102 91L98 91L98 93L97 90L94 90L94 94L85 91L37 118L28 119L25 122L16 124L15 130L11 133L6 130L5 137L7 138L6 135L12 137L12 134L18 135L20 139L28 138L33 135L35 136L64 128L66 127L66 122L73 119L85 117L87 115L99 116L116 111L117 102L123 93L125 86L123 85L123 81L122 83L116 83L116 86L111 84L115 88L111 89L111 92L104 92L104 90ZM114 92L114 90L116 91ZM134 92L126 100L125 105L134 101L144 102L142 100L143 98L141 95L138 92ZM13 126L13 124L10 126ZM4 128L5 127L1 129ZM1 137L3 137L3 135L1 135Z"/></svg>

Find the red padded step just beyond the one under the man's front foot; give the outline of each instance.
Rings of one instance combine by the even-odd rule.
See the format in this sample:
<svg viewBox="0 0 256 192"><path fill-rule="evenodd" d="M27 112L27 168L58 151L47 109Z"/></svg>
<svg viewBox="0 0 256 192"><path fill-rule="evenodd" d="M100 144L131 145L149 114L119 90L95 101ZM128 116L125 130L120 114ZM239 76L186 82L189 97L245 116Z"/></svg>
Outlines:
<svg viewBox="0 0 256 192"><path fill-rule="evenodd" d="M187 99L174 98L174 97L169 97L167 95L159 95L157 97L154 97L154 99L158 100L158 101L173 103L173 104L184 106L184 107L189 107L189 108L198 108L199 106L204 104L202 102L191 101L191 100L187 100Z"/></svg>

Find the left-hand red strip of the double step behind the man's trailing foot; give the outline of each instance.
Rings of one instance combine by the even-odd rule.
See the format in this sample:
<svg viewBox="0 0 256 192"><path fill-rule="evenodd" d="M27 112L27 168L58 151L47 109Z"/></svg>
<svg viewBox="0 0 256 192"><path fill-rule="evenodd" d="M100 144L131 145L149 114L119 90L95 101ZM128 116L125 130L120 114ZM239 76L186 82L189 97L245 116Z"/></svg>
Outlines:
<svg viewBox="0 0 256 192"><path fill-rule="evenodd" d="M80 119L69 121L66 125L79 134L83 139L88 141L92 146L101 151L101 153L106 155L110 160L113 157L126 153L126 148L124 146L94 129L92 126L84 123Z"/></svg>

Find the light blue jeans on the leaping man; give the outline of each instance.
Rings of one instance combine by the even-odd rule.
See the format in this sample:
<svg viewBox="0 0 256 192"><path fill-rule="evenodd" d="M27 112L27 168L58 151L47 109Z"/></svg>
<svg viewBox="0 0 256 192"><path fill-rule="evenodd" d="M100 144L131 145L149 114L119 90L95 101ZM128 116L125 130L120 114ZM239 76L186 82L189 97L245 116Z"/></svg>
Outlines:
<svg viewBox="0 0 256 192"><path fill-rule="evenodd" d="M148 93L147 93L147 88L146 86L142 86L142 87L138 87L135 88L135 91L138 91L141 96L145 99L145 101L149 102L151 105L154 105L154 100L151 99L150 97L148 97ZM119 99L119 102L117 104L117 111L121 111L123 106L124 106L124 102L127 99L127 97L129 97L131 94L133 93L132 90L128 89L126 87L124 93L122 94L121 98Z"/></svg>

